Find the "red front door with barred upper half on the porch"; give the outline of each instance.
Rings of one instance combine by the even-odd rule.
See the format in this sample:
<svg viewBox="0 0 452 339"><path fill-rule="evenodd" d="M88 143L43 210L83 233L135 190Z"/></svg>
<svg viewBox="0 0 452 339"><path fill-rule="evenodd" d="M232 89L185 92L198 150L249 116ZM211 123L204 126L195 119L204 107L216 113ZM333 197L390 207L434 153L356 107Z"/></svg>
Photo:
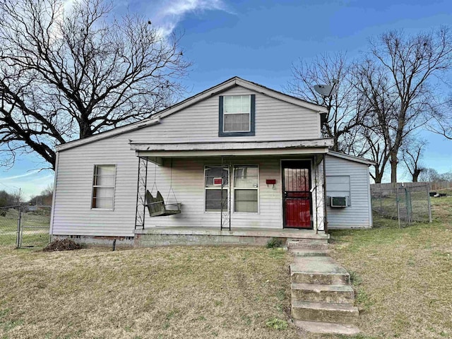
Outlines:
<svg viewBox="0 0 452 339"><path fill-rule="evenodd" d="M284 227L312 228L309 161L283 162Z"/></svg>

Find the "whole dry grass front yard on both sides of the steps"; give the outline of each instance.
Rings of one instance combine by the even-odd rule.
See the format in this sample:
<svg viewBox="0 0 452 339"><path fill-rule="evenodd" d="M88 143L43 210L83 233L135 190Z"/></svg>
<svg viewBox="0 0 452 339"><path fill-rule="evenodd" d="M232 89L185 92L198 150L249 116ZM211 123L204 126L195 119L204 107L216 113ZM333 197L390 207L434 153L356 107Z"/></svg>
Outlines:
<svg viewBox="0 0 452 339"><path fill-rule="evenodd" d="M361 310L352 338L452 338L452 198L432 206L432 224L332 232ZM285 328L287 263L256 247L0 246L0 338L346 338Z"/></svg>

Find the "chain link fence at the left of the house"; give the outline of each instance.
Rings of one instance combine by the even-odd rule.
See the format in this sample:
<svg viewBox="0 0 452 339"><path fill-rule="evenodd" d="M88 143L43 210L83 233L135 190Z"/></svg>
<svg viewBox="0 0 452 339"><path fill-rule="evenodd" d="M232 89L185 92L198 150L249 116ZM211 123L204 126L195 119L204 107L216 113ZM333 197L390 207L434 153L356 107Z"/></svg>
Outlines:
<svg viewBox="0 0 452 339"><path fill-rule="evenodd" d="M0 208L0 246L41 248L50 241L50 206Z"/></svg>

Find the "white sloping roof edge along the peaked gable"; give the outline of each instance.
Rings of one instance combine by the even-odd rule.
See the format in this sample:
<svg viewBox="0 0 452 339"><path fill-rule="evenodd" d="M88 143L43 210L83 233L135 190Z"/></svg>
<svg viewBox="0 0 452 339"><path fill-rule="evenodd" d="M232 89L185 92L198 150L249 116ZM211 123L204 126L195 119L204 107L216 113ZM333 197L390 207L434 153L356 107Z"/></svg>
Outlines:
<svg viewBox="0 0 452 339"><path fill-rule="evenodd" d="M208 97L212 97L213 95L218 95L219 93L224 92L225 90L228 90L236 85L242 86L243 88L247 88L256 93L262 93L264 95L268 95L269 97L274 97L275 99L278 99L278 100L290 102L291 104L297 105L299 107L312 109L319 113L327 113L328 112L328 110L324 106L317 105L312 102L308 102L306 100L302 100L297 97L293 97L292 95L287 95L285 93L278 92L278 90L272 90L270 88L266 88L265 86L259 85L258 83L246 81L242 78L239 78L238 76L234 76L233 78L230 78L227 81L224 81L211 88L208 88L207 90L204 90L203 92L193 95L192 97L189 97L185 100L182 100L181 102L178 102L175 105L167 107L166 109L162 109L160 112L156 112L155 114L152 115L152 117L150 117L148 119L144 119L142 121L134 122L132 124L120 126L120 127L117 127L115 129L112 129L109 131L96 133L95 135L88 136L87 138L69 141L68 143L57 145L57 147L56 147L57 152L59 152L61 150L68 150L69 148L78 147L80 145L85 145L87 143L93 143L95 141L99 141L99 140L102 140L105 138L110 138L112 136L117 136L119 134L127 133L130 131L136 131L137 129L143 129L147 126L153 126L155 124L160 124L160 119L168 117L169 115L174 114L176 112L179 112L182 109L185 109L186 107L195 105L197 102L207 99Z"/></svg>

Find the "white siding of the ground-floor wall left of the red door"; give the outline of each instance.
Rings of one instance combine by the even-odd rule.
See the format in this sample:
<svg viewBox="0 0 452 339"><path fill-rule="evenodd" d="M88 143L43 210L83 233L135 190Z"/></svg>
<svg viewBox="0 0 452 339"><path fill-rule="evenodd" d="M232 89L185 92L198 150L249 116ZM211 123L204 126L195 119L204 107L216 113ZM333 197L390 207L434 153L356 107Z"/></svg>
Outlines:
<svg viewBox="0 0 452 339"><path fill-rule="evenodd" d="M122 135L59 153L53 234L133 237L138 159L129 150L128 138ZM172 182L177 201L182 203L182 213L156 218L146 215L145 227L220 227L220 213L205 212L204 169L215 162L211 158L174 158L172 171L170 160L164 162L162 167L149 163L148 189L153 186L155 175L165 203L173 203L172 194L167 199ZM91 209L87 203L95 163L117 164L114 210ZM259 166L259 214L231 213L232 227L283 228L280 158L237 157L237 163ZM266 185L269 178L277 179L274 187Z"/></svg>

